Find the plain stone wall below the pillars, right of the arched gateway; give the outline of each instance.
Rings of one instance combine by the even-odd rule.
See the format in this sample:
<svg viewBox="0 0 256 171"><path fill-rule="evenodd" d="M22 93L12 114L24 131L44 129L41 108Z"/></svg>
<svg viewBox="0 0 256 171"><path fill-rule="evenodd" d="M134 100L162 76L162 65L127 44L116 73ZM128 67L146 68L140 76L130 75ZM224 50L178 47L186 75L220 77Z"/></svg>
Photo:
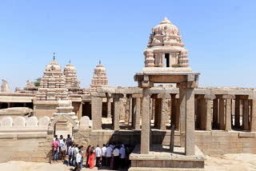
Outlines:
<svg viewBox="0 0 256 171"><path fill-rule="evenodd" d="M195 131L196 145L205 155L218 155L225 153L256 153L256 133L226 132L226 131ZM125 144L136 145L140 143L140 131L114 131L114 130L78 130L75 133L78 144L100 145L110 141L122 141ZM180 145L179 132L175 131L174 145ZM170 130L153 130L152 143L170 145Z"/></svg>

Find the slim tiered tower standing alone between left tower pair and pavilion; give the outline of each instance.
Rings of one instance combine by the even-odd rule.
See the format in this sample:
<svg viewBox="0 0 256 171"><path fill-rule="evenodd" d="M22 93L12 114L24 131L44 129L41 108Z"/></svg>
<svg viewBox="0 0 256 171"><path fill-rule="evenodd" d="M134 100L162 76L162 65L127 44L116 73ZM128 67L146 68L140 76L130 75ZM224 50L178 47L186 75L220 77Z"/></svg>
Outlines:
<svg viewBox="0 0 256 171"><path fill-rule="evenodd" d="M102 66L101 61L99 61L98 66L94 69L94 78L89 90L90 92L95 92L97 87L102 87L103 85L108 85L108 79L106 77L106 69Z"/></svg>

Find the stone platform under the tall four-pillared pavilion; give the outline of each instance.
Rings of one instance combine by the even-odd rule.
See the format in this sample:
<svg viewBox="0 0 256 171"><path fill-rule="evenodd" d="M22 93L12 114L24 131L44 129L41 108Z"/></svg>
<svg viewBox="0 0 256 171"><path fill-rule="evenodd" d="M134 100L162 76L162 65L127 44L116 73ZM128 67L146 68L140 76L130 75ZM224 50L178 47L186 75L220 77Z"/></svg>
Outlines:
<svg viewBox="0 0 256 171"><path fill-rule="evenodd" d="M195 155L186 156L183 147L175 146L174 153L170 153L167 145L152 145L149 154L140 153L140 145L136 145L130 154L131 167L135 170L202 170L206 157L198 146Z"/></svg>

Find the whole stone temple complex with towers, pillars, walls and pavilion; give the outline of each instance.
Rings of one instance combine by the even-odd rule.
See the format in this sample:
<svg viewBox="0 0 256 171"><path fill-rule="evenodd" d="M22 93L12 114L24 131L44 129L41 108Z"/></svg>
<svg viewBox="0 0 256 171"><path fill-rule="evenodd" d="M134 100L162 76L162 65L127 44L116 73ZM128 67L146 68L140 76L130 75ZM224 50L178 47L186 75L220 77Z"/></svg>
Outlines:
<svg viewBox="0 0 256 171"><path fill-rule="evenodd" d="M256 153L256 89L198 87L200 73L167 18L153 27L143 54L134 87L109 86L99 62L90 88L81 88L74 65L62 71L55 57L39 87L28 81L10 92L3 80L0 162L50 162L52 137L67 133L85 147L134 145L129 170L202 170L205 155Z"/></svg>

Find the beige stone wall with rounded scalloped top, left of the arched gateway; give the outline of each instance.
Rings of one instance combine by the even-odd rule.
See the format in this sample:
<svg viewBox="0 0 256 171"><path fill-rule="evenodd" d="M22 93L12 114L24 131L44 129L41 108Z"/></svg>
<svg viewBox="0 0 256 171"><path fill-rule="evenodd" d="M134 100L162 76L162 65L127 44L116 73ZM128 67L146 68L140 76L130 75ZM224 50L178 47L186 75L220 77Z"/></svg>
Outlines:
<svg viewBox="0 0 256 171"><path fill-rule="evenodd" d="M50 118L3 117L0 121L0 162L49 162L53 135L48 133Z"/></svg>

